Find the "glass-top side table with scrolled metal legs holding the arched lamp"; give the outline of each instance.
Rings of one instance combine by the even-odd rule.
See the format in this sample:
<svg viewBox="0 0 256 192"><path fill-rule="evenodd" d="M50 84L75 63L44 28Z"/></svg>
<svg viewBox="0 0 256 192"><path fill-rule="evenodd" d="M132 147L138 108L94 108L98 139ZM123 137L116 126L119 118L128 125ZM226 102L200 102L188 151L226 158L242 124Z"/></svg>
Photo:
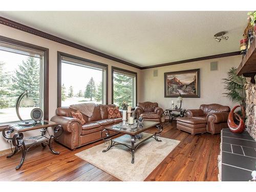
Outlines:
<svg viewBox="0 0 256 192"><path fill-rule="evenodd" d="M7 139L7 142L11 144L12 153L7 156L7 158L12 157L17 152L22 151L22 159L20 163L15 167L15 169L19 169L22 167L26 153L31 149L32 146L41 144L42 147L49 146L51 153L54 155L58 155L59 152L54 151L52 144L54 138L59 137L62 132L62 126L58 125L55 122L42 120L38 123L35 123L31 126L20 126L17 123L12 123L8 125L9 127L3 130L3 136ZM48 132L48 127L54 127L54 134L50 135ZM41 135L35 137L24 138L23 132L32 131L32 130L40 130ZM12 136L12 133L16 131L16 133ZM50 137L46 136L48 132ZM12 149L12 145L15 147L14 150Z"/></svg>

